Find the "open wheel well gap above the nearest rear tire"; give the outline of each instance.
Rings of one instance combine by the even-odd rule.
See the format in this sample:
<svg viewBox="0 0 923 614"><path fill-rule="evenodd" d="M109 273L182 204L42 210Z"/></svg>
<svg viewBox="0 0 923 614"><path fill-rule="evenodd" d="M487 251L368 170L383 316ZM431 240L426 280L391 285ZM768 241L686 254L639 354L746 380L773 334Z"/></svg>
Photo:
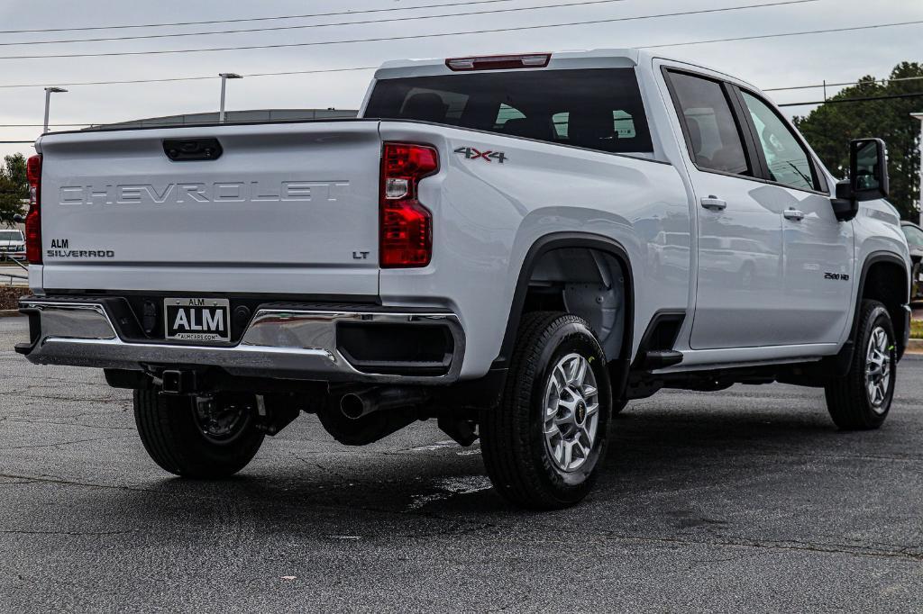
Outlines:
<svg viewBox="0 0 923 614"><path fill-rule="evenodd" d="M533 263L522 312L561 311L593 327L607 360L622 358L626 340L626 274L617 257L590 247L561 247Z"/></svg>

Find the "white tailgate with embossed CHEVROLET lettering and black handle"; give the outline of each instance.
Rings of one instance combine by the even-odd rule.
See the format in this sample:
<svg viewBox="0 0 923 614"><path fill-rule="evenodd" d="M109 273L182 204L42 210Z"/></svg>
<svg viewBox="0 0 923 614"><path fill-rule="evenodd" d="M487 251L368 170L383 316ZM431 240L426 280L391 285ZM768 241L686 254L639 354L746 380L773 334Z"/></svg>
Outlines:
<svg viewBox="0 0 923 614"><path fill-rule="evenodd" d="M39 148L46 290L378 294L377 122L84 132ZM171 159L177 148L194 159Z"/></svg>

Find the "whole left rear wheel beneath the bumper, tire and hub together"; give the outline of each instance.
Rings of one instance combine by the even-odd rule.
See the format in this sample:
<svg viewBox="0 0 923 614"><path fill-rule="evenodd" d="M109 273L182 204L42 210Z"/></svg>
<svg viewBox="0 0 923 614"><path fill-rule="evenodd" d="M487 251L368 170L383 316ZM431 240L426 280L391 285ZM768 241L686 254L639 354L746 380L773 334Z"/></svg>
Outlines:
<svg viewBox="0 0 923 614"><path fill-rule="evenodd" d="M177 476L234 475L263 443L247 396L162 396L156 390L136 390L134 402L144 449Z"/></svg>

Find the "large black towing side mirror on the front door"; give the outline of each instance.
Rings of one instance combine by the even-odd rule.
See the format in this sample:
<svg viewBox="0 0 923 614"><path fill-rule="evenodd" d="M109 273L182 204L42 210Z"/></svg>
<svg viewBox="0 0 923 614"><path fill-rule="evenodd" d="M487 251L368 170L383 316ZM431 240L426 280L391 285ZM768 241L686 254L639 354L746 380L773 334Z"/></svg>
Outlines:
<svg viewBox="0 0 923 614"><path fill-rule="evenodd" d="M881 138L851 141L849 179L836 184L836 198L833 200L836 218L841 221L855 218L860 202L886 198L889 190L888 152L884 141Z"/></svg>

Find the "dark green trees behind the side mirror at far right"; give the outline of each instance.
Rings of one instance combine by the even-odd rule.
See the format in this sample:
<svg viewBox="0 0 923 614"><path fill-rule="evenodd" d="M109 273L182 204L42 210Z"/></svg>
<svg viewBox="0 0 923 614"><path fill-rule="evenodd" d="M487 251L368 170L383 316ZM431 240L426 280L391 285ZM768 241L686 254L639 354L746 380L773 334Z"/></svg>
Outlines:
<svg viewBox="0 0 923 614"><path fill-rule="evenodd" d="M829 100L893 96L923 92L923 78L900 81L906 77L923 77L923 64L902 62L894 66L885 81L862 77L859 83L841 90ZM840 177L849 169L849 141L878 136L888 146L888 174L891 196L888 198L903 218L918 218L919 210L919 138L920 125L910 116L923 111L923 96L860 102L822 104L807 117L796 117L798 130L823 163Z"/></svg>

